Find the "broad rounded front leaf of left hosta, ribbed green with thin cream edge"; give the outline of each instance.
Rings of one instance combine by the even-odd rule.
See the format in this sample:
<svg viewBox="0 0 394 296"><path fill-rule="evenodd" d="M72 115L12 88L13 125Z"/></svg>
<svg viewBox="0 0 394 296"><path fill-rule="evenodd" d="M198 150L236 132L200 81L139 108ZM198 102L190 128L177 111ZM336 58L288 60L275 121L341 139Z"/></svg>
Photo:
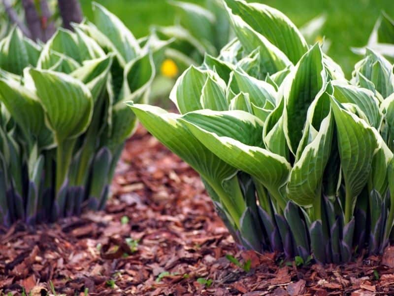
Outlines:
<svg viewBox="0 0 394 296"><path fill-rule="evenodd" d="M83 133L93 113L89 89L79 80L62 73L31 69L30 75L57 142Z"/></svg>

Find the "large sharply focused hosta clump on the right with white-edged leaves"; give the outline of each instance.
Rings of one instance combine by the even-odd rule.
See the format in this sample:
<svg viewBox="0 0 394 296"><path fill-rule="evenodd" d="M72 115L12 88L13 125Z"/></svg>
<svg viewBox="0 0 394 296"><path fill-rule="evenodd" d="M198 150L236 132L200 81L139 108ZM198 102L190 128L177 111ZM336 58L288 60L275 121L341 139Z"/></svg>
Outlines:
<svg viewBox="0 0 394 296"><path fill-rule="evenodd" d="M346 262L390 241L393 65L368 50L347 80L281 12L225 0L236 34L177 80L180 114L129 103L201 176L235 241Z"/></svg>

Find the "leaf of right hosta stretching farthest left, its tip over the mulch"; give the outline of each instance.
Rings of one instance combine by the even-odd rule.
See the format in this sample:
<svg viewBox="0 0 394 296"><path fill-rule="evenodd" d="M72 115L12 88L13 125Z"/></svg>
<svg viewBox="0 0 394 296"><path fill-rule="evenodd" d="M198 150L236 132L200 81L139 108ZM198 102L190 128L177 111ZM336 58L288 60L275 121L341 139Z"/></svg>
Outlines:
<svg viewBox="0 0 394 296"><path fill-rule="evenodd" d="M239 185L237 190L232 188L230 192L226 192L223 187L226 180L232 179L237 170L205 148L183 124L184 121L180 121L180 115L140 104L132 104L131 109L152 135L179 155L209 183L239 226L239 219L245 210L242 194L238 194ZM237 184L236 180L235 182Z"/></svg>

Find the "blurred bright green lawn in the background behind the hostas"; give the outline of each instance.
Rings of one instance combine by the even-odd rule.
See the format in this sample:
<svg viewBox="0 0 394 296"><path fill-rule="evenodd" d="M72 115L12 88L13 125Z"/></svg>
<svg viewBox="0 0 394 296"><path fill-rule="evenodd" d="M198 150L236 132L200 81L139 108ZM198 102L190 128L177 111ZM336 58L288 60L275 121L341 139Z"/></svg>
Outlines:
<svg viewBox="0 0 394 296"><path fill-rule="evenodd" d="M165 0L97 0L118 15L136 37L149 33L151 24L173 23L174 9ZM81 0L85 15L92 17L90 0ZM194 0L203 2L203 0ZM393 0L260 0L278 8L301 26L314 16L326 13L322 35L332 43L328 54L349 76L360 59L350 46L365 45L381 10L394 17Z"/></svg>

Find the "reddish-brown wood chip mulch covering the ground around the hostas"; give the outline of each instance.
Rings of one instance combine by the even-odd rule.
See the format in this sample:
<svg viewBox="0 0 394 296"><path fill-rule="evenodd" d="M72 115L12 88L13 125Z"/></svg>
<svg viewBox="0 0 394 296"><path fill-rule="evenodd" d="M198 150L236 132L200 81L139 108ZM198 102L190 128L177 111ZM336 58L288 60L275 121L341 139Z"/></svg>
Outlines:
<svg viewBox="0 0 394 296"><path fill-rule="evenodd" d="M105 212L0 228L0 295L394 295L392 249L386 265L372 256L308 267L239 251L197 174L142 128L112 191Z"/></svg>

